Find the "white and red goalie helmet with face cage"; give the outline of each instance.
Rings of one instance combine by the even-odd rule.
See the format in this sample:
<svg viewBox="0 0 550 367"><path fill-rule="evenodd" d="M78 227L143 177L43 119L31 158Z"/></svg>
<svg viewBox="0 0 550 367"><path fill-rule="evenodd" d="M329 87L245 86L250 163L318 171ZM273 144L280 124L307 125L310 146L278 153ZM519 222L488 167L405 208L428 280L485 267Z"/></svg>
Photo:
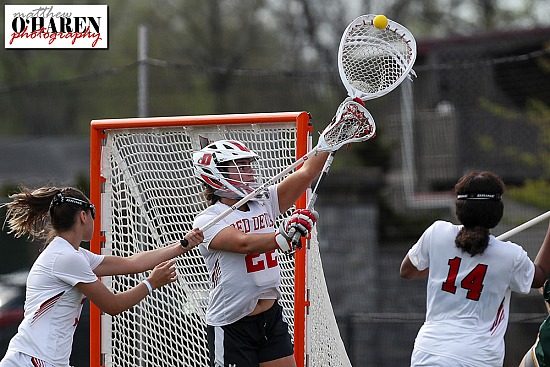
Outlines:
<svg viewBox="0 0 550 367"><path fill-rule="evenodd" d="M195 177L220 197L240 199L262 184L259 156L237 140L218 140L193 153L193 166Z"/></svg>

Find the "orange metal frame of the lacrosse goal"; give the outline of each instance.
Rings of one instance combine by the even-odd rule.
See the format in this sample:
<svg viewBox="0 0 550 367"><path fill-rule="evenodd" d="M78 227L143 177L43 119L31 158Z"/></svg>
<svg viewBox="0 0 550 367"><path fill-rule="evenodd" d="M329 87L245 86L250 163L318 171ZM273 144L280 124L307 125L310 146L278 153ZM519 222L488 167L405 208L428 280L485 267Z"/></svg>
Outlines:
<svg viewBox="0 0 550 367"><path fill-rule="evenodd" d="M150 118L124 118L92 120L90 123L90 200L97 207L98 217L94 227L90 250L101 253L105 236L101 229L101 190L105 179L101 177L102 141L110 129L176 127L189 125L230 125L262 123L296 124L296 159L311 148L311 116L307 112L275 112L229 115L171 116ZM306 194L296 202L297 208L305 208ZM304 367L306 344L306 314L309 300L306 291L306 246L295 254L294 287L294 358L298 367ZM101 367L101 311L90 302L90 367Z"/></svg>

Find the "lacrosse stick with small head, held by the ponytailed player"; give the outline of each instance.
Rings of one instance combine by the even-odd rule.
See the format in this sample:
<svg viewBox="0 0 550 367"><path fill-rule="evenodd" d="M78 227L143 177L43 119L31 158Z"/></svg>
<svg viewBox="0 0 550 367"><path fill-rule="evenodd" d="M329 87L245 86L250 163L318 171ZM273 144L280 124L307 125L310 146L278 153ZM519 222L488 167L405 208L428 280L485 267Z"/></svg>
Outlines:
<svg viewBox="0 0 550 367"><path fill-rule="evenodd" d="M334 152L344 145L368 140L374 136L375 130L374 120L365 107L356 101L345 101L338 109L333 122L323 130L317 145L313 149L206 223L201 230L206 231L312 156L320 152ZM185 239L181 240L183 246L186 243Z"/></svg>

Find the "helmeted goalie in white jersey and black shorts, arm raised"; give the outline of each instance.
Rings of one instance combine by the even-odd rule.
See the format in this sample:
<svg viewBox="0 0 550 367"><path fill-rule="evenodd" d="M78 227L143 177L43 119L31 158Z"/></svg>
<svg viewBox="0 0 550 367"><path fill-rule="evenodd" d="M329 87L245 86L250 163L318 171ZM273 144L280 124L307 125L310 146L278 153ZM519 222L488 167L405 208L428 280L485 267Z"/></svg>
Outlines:
<svg viewBox="0 0 550 367"><path fill-rule="evenodd" d="M292 237L308 237L317 214L298 209L275 228L319 175L328 157L318 153L264 195L251 200L204 233L199 245L210 276L206 311L210 366L294 367L288 325L278 303L280 252ZM193 225L205 224L261 185L258 155L243 143L220 140L193 155L197 178L209 207Z"/></svg>

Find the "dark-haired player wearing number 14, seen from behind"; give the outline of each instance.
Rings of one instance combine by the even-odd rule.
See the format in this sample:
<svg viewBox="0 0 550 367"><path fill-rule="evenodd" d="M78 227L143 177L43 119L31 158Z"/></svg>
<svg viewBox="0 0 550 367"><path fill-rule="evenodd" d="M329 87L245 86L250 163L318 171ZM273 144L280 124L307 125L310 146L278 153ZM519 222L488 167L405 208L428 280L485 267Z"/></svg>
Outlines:
<svg viewBox="0 0 550 367"><path fill-rule="evenodd" d="M490 232L504 209L497 175L470 172L455 193L461 224L436 221L401 264L401 277L428 279L411 366L501 367L511 293L528 293L550 275L550 228L533 262L519 245Z"/></svg>

